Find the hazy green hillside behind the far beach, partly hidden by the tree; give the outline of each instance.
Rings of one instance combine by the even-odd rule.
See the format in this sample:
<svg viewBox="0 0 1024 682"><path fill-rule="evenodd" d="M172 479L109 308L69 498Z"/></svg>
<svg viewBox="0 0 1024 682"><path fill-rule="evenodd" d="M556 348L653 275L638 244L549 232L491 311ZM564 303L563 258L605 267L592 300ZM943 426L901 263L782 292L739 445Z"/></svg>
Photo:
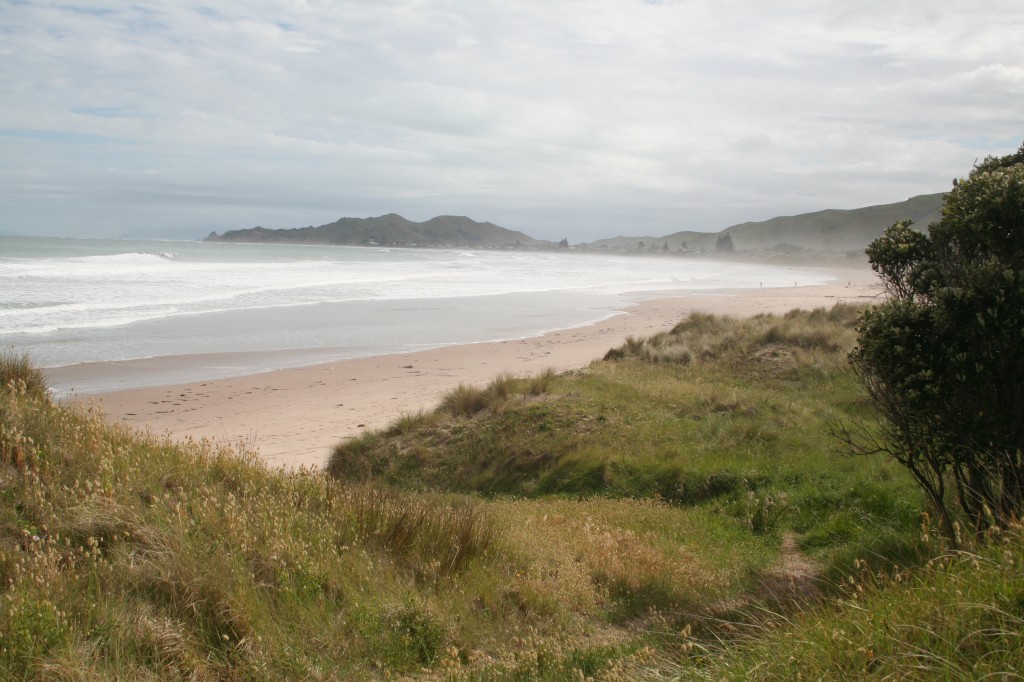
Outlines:
<svg viewBox="0 0 1024 682"><path fill-rule="evenodd" d="M714 251L719 239L728 235L736 251L863 251L897 220L910 218L915 227L926 229L941 217L943 196L942 193L922 195L896 204L850 210L828 209L760 222L743 222L719 232L680 231L666 237L615 237L592 242L587 247L658 251L668 245L671 251L680 248Z"/></svg>

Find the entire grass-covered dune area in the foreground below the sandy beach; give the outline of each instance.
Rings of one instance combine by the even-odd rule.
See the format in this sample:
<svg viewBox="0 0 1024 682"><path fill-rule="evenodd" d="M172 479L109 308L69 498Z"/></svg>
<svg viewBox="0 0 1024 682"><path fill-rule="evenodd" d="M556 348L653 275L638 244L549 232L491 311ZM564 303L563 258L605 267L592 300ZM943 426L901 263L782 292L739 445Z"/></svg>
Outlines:
<svg viewBox="0 0 1024 682"><path fill-rule="evenodd" d="M464 389L339 447L336 475L390 486L105 425L4 356L0 677L1020 671L1018 535L922 565L901 472L829 454L828 417L866 409L851 321L698 316ZM766 601L794 536L834 567L819 607Z"/></svg>

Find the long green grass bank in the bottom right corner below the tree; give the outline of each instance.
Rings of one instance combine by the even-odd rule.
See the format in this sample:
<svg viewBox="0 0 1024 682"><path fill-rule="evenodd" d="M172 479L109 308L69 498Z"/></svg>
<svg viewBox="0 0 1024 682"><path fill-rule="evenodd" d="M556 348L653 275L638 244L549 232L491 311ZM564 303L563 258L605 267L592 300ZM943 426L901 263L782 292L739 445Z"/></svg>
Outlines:
<svg viewBox="0 0 1024 682"><path fill-rule="evenodd" d="M836 599L762 611L717 642L678 637L633 679L1016 679L1024 664L1021 527L914 570L858 562ZM667 653L670 647L664 647Z"/></svg>

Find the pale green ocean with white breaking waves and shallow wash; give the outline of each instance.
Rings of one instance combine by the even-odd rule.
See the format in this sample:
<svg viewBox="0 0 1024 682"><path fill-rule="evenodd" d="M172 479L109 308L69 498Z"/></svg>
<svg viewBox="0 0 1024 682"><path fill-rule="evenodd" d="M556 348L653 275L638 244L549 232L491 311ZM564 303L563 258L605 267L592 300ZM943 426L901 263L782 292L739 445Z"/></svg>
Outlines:
<svg viewBox="0 0 1024 682"><path fill-rule="evenodd" d="M78 380L88 394L526 338L677 292L830 280L676 257L0 237L0 346L47 369L190 358L173 374L112 366Z"/></svg>

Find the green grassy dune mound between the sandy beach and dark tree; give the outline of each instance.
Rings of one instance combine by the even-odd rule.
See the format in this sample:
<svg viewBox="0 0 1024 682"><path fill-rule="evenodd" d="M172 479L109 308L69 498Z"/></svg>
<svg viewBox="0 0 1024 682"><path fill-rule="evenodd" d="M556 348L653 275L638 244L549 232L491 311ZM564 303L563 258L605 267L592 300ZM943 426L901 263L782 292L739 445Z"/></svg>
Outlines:
<svg viewBox="0 0 1024 682"><path fill-rule="evenodd" d="M459 387L415 428L340 443L328 470L411 489L654 498L701 523L798 532L826 563L910 555L922 501L909 478L883 457L836 456L828 434L868 414L846 361L859 312L692 313L543 390L509 377Z"/></svg>

